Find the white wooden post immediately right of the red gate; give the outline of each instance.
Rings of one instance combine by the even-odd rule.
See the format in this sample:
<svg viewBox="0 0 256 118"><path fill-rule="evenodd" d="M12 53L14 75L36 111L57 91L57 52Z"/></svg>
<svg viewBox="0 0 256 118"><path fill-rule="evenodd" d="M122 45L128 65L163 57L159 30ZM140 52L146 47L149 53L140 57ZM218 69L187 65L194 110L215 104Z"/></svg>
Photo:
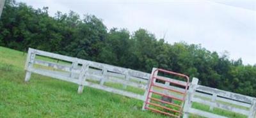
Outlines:
<svg viewBox="0 0 256 118"><path fill-rule="evenodd" d="M183 118L188 118L188 116L189 116L189 108L191 108L191 106L192 106L191 100L195 94L197 84L198 84L198 78L193 78L191 84L189 85L188 94L186 96L186 100L184 103Z"/></svg>

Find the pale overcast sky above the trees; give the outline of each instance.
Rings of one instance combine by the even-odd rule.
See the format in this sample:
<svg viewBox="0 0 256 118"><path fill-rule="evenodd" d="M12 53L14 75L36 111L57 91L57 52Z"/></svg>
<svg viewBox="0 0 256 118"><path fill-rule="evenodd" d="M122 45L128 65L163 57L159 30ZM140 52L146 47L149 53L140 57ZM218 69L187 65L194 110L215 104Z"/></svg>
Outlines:
<svg viewBox="0 0 256 118"><path fill-rule="evenodd" d="M104 24L127 28L140 27L168 43L186 41L230 59L256 64L256 1L33 1L18 0L33 8L49 7L49 14L72 10L96 15Z"/></svg>

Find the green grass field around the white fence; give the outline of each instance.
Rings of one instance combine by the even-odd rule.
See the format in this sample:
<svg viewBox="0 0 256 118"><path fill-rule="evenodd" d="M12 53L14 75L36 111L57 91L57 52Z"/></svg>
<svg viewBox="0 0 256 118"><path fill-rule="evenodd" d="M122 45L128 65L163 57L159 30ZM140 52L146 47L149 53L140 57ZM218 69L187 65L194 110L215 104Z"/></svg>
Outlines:
<svg viewBox="0 0 256 118"><path fill-rule="evenodd" d="M0 47L0 117L166 117L142 111L142 101L90 87L77 94L76 84L41 75L32 74L25 83L25 61L23 52ZM209 110L198 103L193 107ZM244 117L218 109L213 112Z"/></svg>

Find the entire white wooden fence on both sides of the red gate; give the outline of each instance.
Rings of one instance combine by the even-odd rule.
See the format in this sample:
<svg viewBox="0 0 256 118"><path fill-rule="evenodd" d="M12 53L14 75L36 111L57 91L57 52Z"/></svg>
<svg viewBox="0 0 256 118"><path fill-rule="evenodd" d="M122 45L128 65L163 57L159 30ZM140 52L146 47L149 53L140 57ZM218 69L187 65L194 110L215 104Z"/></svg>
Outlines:
<svg viewBox="0 0 256 118"><path fill-rule="evenodd" d="M38 57L39 55L39 57ZM40 57L41 56L41 57ZM42 59L44 56L44 59ZM48 58L45 58L48 57ZM52 59L60 59L60 63L52 62ZM150 82L150 73L144 73L141 71L130 70L127 68L121 68L112 66L109 64L97 63L93 61L87 61L84 59L77 59L76 57L68 57L65 55L54 54L51 52L44 52L42 50L36 50L29 48L28 57L25 65L26 77L25 81L28 82L31 73L37 73L47 77L58 78L67 82L78 84L78 93L83 92L83 87L93 87L101 89L103 91L113 92L123 96L136 98L145 102L146 94L148 92L148 84ZM153 70L156 70L153 68ZM166 78L173 82L179 82L184 84L183 81L175 80L172 78ZM107 83L122 84L123 88L109 87L105 85ZM164 85L171 89L184 92L184 89L179 87L170 86L168 83L156 83L158 85ZM127 86L141 89L144 94L139 94L131 91L127 91ZM156 90L157 91L157 90ZM169 95L166 91L158 91L163 94ZM176 96L175 94L173 96ZM180 96L176 96L180 97ZM204 117L224 117L210 112L205 112L192 108L192 103L201 103L210 106L210 111L214 108L221 108L230 112L237 112L239 114L247 115L249 118L255 117L256 112L256 99L250 96L244 96L233 92L221 91L219 89L213 89L211 87L205 87L198 85L198 79L193 78L189 85L188 95L184 103L184 115L186 118L189 114L201 115Z"/></svg>

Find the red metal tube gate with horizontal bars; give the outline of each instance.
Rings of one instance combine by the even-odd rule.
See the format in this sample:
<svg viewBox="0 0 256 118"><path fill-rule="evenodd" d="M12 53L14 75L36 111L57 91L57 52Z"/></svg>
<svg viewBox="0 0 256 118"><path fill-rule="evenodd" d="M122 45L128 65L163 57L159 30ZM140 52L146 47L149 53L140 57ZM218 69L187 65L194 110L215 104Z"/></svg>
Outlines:
<svg viewBox="0 0 256 118"><path fill-rule="evenodd" d="M184 78L184 80L186 81L161 77L157 75L158 72L165 73L168 75L174 75L177 77L182 77L182 79ZM156 82L156 80L160 80L162 81L162 83L160 82L161 84L159 84ZM168 84L163 84L163 82L167 82ZM148 86L148 92L146 96L147 98L145 100L145 105L143 106L144 109L152 110L153 112L159 112L165 115L170 115L172 117L180 117L182 115L182 107L184 105L188 85L189 77L186 75L162 69L156 69L152 71L150 84ZM182 89L179 89L180 87L182 87ZM163 91L157 92L154 89ZM170 94L164 94L163 92L170 92ZM177 94L179 94L180 97L177 97ZM161 96L162 99L159 99L159 96Z"/></svg>

